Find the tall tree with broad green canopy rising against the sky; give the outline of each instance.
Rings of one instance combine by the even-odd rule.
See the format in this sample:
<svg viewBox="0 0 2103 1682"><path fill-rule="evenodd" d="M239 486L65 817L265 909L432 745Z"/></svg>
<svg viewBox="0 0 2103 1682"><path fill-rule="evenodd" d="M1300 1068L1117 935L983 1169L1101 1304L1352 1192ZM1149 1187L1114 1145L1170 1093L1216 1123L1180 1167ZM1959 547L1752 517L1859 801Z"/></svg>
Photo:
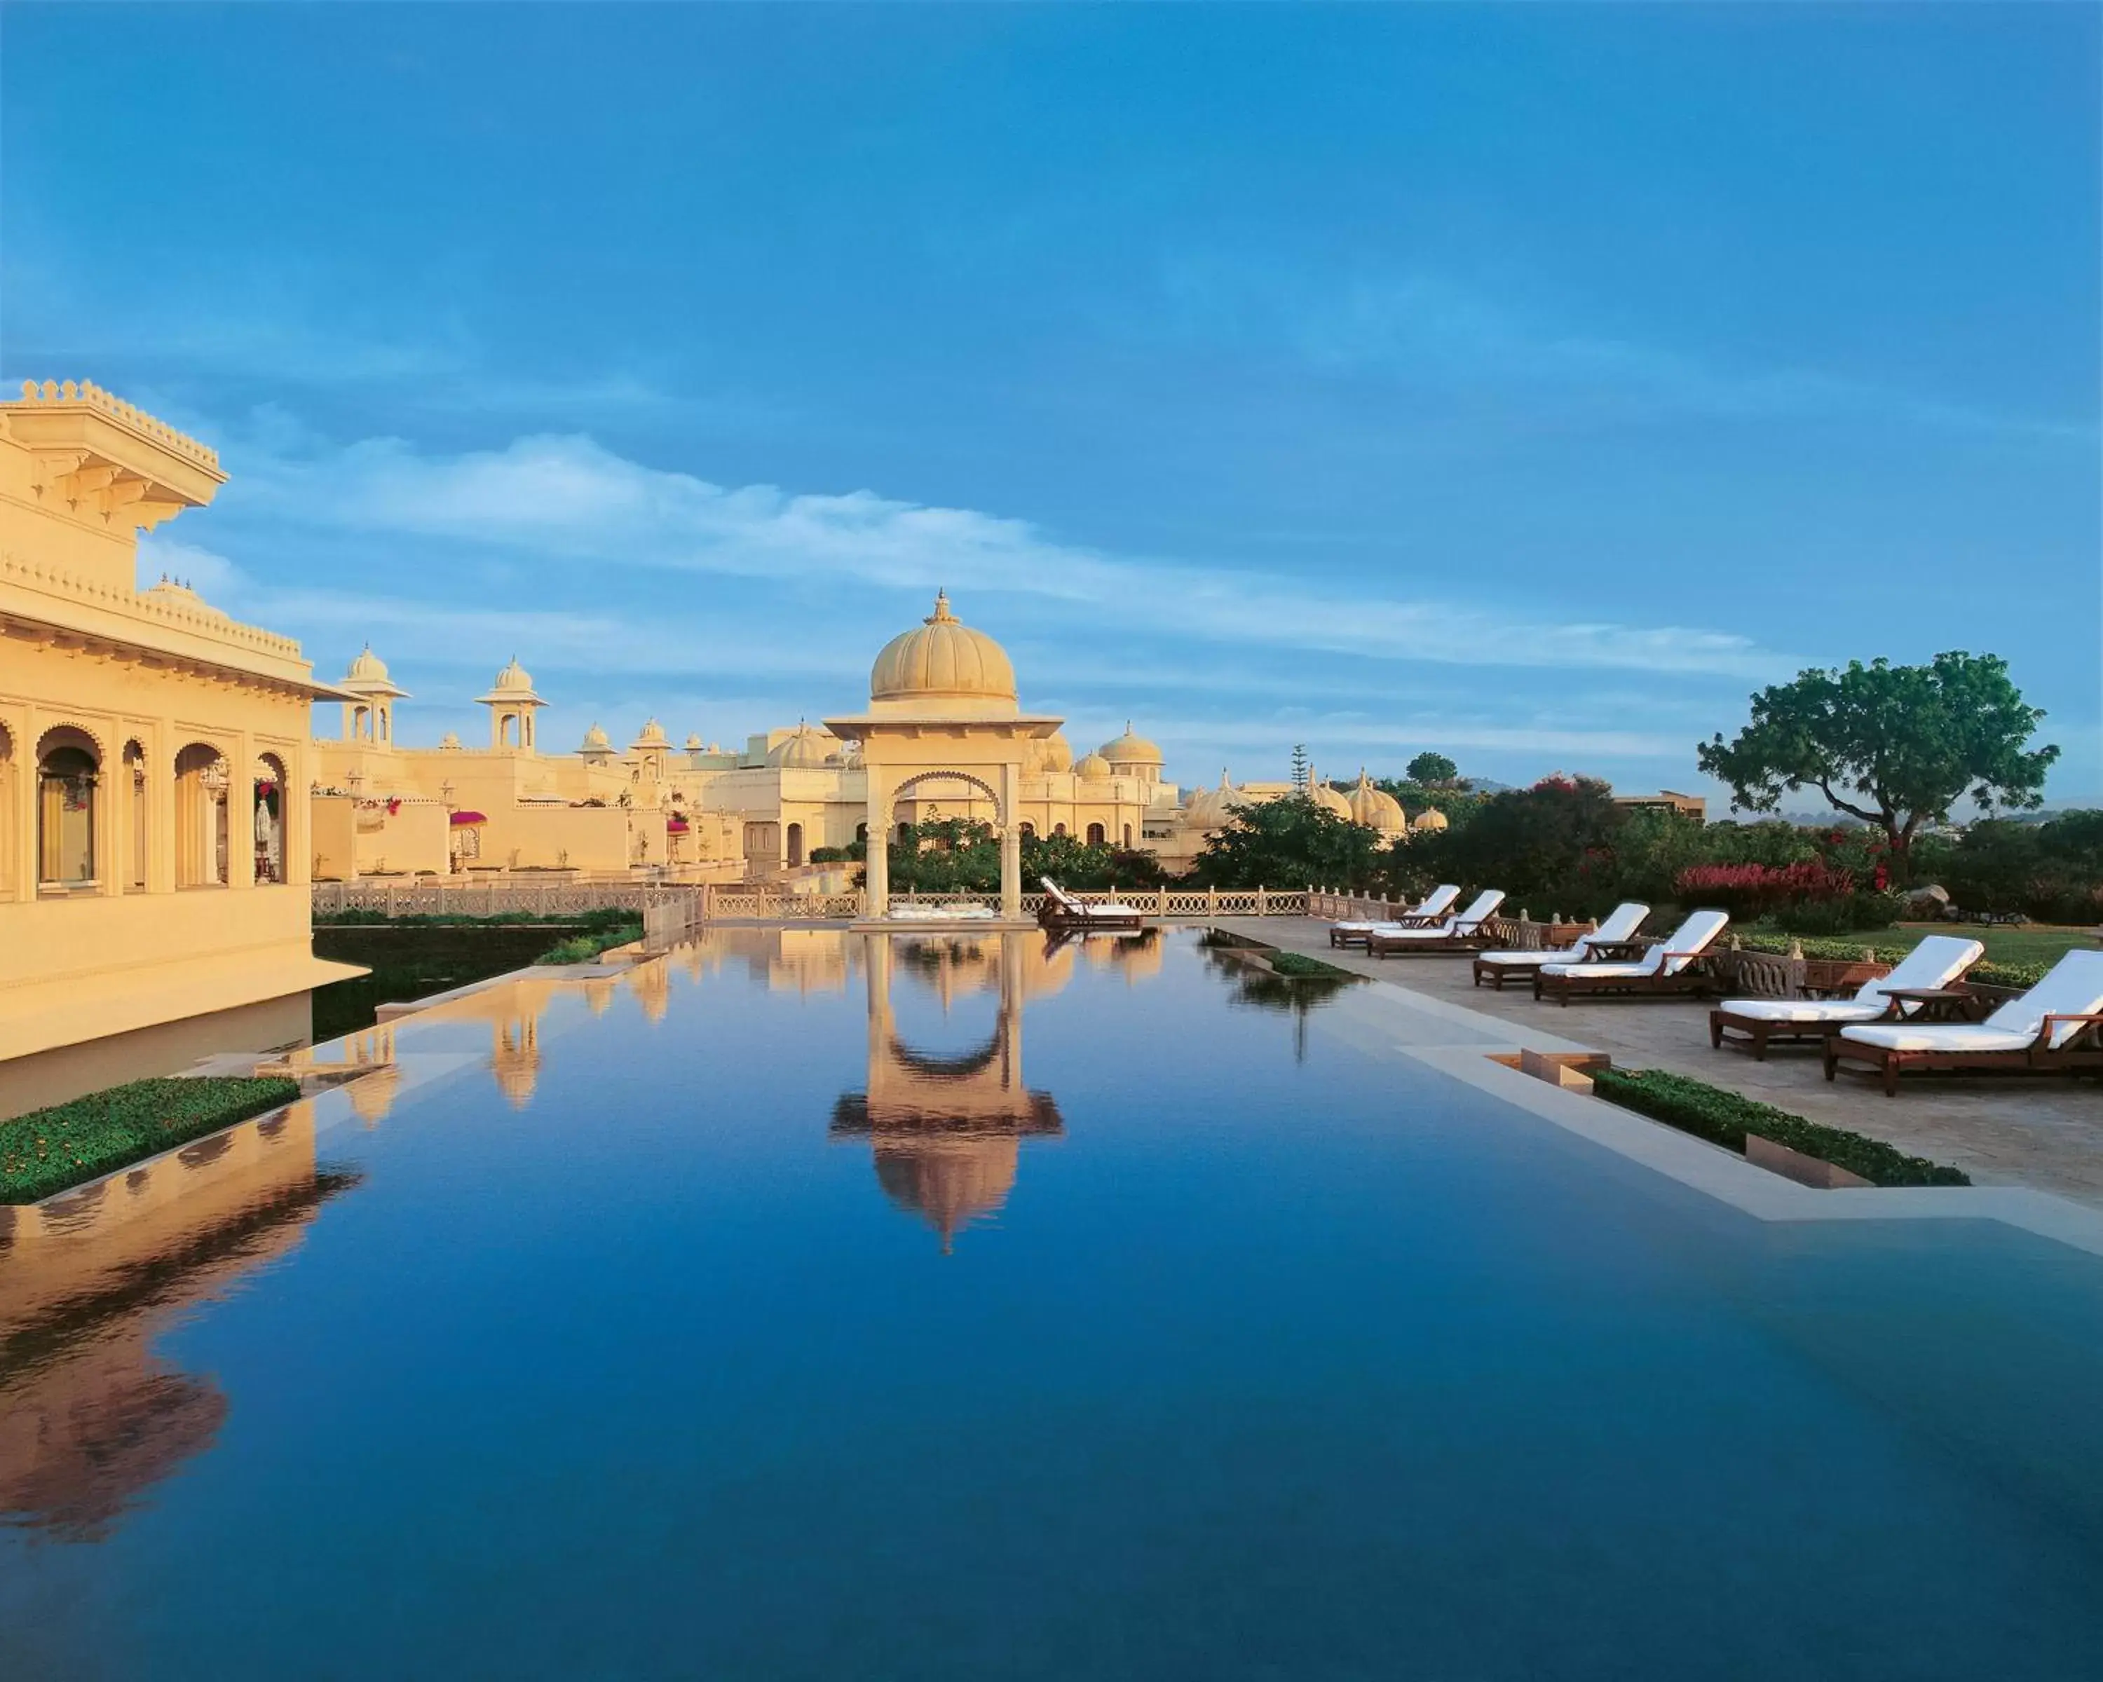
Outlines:
<svg viewBox="0 0 2103 1682"><path fill-rule="evenodd" d="M2029 748L2042 717L1996 654L1958 650L1926 666L1851 660L1760 690L1752 723L1695 755L1748 812L1817 788L1834 809L1884 830L1893 875L1905 881L1914 833L1947 820L1966 793L1987 812L2042 805L2044 774L2059 759L2057 746Z"/></svg>

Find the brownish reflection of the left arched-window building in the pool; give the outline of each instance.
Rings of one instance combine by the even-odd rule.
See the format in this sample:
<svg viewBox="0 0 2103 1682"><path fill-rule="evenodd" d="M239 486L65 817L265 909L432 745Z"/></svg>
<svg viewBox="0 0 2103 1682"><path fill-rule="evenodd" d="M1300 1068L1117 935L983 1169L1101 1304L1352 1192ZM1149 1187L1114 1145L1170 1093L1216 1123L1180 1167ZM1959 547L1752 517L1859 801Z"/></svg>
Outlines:
<svg viewBox="0 0 2103 1682"><path fill-rule="evenodd" d="M0 1209L0 1520L105 1535L210 1449L227 1398L154 1339L284 1255L358 1184L313 1163L313 1106L200 1140L74 1196Z"/></svg>

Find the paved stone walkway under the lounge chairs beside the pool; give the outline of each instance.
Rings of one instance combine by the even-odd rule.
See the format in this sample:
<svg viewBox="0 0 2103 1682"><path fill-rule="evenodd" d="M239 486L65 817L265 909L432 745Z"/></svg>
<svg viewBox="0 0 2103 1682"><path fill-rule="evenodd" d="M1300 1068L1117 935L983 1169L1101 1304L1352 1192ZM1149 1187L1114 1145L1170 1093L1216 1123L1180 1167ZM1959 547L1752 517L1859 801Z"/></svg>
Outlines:
<svg viewBox="0 0 2103 1682"><path fill-rule="evenodd" d="M1670 1068L1741 1091L1830 1127L1886 1140L1914 1156L1964 1169L1981 1186L2029 1186L2103 1207L2103 1085L2065 1076L1914 1076L1897 1098L1842 1070L1832 1085L1811 1047L1712 1051L1708 1005L1598 1001L1535 1005L1531 988L1476 988L1457 957L1369 959L1329 948L1329 925L1304 917L1222 917L1220 927L1266 946L1319 957L1386 986L1466 1005L1510 1022L1514 1043L1552 1034L1605 1051L1619 1068Z"/></svg>

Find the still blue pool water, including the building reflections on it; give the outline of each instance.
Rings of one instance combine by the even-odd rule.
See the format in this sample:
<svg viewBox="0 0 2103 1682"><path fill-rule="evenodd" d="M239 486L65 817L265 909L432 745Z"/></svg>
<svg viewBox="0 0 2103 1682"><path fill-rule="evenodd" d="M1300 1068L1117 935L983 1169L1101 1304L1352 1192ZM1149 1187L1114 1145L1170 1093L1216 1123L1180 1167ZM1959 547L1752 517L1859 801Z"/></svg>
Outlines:
<svg viewBox="0 0 2103 1682"><path fill-rule="evenodd" d="M1373 1003L726 929L370 1030L17 1224L0 1676L2103 1674L2097 1257L1754 1219Z"/></svg>

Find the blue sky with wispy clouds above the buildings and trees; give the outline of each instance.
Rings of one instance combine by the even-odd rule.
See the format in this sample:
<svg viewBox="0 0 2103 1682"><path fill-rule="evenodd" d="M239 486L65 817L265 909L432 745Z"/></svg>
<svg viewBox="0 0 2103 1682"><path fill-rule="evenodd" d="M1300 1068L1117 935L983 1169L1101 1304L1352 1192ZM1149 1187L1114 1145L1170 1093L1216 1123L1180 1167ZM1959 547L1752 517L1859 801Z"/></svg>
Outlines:
<svg viewBox="0 0 2103 1682"><path fill-rule="evenodd" d="M86 42L82 32L93 36ZM408 740L854 709L946 584L1079 744L1699 786L1802 664L2099 748L2088 6L8 6L0 374Z"/></svg>

